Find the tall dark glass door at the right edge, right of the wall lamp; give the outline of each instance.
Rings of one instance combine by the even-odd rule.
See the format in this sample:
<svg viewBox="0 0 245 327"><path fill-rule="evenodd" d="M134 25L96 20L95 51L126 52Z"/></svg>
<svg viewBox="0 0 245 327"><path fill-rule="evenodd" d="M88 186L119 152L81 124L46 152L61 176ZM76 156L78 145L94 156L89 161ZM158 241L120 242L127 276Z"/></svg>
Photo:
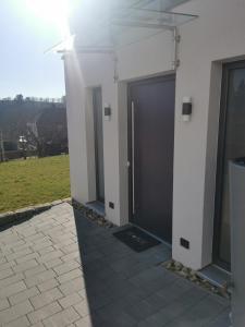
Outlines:
<svg viewBox="0 0 245 327"><path fill-rule="evenodd" d="M230 269L229 160L245 157L245 62L223 69L216 192L215 261Z"/></svg>

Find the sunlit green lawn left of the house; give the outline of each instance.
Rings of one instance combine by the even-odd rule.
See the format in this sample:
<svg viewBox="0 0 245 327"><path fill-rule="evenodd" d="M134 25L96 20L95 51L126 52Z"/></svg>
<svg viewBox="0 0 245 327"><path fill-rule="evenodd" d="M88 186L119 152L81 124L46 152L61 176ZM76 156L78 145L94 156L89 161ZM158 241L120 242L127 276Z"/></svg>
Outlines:
<svg viewBox="0 0 245 327"><path fill-rule="evenodd" d="M0 164L0 213L69 196L69 156Z"/></svg>

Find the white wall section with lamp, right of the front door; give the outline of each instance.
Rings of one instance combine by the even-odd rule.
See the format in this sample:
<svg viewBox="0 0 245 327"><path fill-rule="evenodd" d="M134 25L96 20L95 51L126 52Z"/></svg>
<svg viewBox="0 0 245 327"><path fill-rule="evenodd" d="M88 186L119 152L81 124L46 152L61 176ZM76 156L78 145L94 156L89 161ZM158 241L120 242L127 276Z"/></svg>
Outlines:
<svg viewBox="0 0 245 327"><path fill-rule="evenodd" d="M180 11L199 17L181 28L181 66L176 74L173 184L173 257L193 268L212 261L216 162L221 62L245 55L245 1L189 1ZM193 117L181 121L184 96ZM180 238L191 249L180 246Z"/></svg>

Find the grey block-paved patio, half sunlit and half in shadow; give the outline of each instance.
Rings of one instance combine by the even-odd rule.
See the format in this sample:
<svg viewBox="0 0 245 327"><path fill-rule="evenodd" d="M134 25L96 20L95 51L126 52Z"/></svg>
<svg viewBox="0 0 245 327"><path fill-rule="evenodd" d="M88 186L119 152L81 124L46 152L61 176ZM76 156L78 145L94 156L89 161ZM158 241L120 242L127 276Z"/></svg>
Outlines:
<svg viewBox="0 0 245 327"><path fill-rule="evenodd" d="M69 204L0 232L1 326L228 327L229 302L137 254Z"/></svg>

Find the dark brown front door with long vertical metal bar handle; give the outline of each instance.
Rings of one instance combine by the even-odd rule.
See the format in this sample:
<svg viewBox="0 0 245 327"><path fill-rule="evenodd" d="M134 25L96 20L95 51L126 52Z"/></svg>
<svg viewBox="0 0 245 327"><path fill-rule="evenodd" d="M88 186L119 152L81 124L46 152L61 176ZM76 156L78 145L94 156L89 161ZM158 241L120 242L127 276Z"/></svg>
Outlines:
<svg viewBox="0 0 245 327"><path fill-rule="evenodd" d="M131 221L171 243L175 77L128 92Z"/></svg>

